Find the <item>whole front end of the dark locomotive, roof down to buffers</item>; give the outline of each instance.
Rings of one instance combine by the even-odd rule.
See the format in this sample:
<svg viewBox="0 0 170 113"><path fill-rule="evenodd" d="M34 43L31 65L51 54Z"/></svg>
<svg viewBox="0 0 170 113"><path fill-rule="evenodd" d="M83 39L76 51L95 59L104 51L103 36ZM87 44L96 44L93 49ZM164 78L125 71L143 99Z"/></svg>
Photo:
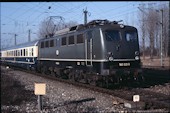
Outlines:
<svg viewBox="0 0 170 113"><path fill-rule="evenodd" d="M100 73L121 80L127 76L138 79L142 70L137 29L117 24L103 26L101 31L105 62L101 63Z"/></svg>

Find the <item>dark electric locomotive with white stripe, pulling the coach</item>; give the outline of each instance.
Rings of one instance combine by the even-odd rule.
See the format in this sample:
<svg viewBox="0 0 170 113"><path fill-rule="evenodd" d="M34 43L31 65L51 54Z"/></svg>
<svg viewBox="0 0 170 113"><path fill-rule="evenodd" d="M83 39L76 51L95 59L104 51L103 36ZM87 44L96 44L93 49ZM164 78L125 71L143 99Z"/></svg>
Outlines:
<svg viewBox="0 0 170 113"><path fill-rule="evenodd" d="M135 27L93 20L56 34L39 42L38 71L95 84L142 79Z"/></svg>

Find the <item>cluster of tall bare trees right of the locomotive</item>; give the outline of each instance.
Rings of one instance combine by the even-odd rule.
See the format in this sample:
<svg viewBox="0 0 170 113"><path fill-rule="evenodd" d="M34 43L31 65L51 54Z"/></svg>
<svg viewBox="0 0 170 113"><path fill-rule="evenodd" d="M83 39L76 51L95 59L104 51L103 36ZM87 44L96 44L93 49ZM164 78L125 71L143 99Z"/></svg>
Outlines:
<svg viewBox="0 0 170 113"><path fill-rule="evenodd" d="M168 56L168 42L169 42L169 7L168 4L161 4L158 7L153 7L154 3L148 3L148 7L145 7L144 3L139 5L139 27L141 28L142 34L142 52L145 53L145 43L147 37L149 38L149 50L150 57L153 58L154 50L157 56L160 56L160 41L162 36L161 26L163 18L163 56ZM158 13L156 10L163 10L163 17L161 11ZM143 54L144 57L145 54Z"/></svg>

